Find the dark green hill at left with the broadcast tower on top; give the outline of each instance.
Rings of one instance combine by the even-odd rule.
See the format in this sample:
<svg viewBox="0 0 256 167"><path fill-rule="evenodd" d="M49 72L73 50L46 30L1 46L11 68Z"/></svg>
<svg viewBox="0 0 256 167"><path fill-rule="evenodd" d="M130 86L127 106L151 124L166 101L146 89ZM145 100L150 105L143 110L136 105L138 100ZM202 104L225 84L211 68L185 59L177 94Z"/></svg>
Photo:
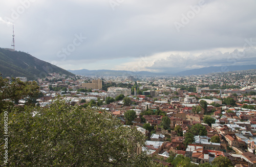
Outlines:
<svg viewBox="0 0 256 167"><path fill-rule="evenodd" d="M56 65L39 60L25 52L0 48L0 73L3 77L27 77L28 80L42 78L49 73L74 76Z"/></svg>

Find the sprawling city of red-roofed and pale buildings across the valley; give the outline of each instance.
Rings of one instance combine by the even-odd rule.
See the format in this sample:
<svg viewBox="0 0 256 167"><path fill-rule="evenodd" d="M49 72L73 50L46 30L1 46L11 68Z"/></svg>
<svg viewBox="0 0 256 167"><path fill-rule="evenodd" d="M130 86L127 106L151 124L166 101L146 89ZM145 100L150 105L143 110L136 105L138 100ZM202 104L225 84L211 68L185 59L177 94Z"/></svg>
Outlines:
<svg viewBox="0 0 256 167"><path fill-rule="evenodd" d="M213 164L223 156L231 165L254 166L256 70L172 78L54 73L37 83L37 106L47 108L60 96L71 106L109 112L145 136L138 153L146 152L164 166L173 165L174 155L195 165ZM20 99L18 105L26 103Z"/></svg>

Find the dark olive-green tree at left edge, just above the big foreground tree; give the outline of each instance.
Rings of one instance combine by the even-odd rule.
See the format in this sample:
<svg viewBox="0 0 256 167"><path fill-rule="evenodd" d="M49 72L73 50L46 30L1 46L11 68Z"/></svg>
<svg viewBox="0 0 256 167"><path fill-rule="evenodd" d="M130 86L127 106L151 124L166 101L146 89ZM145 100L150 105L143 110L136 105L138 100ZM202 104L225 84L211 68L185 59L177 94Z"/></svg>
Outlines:
<svg viewBox="0 0 256 167"><path fill-rule="evenodd" d="M23 82L12 78L12 82L9 82L8 79L0 77L0 112L12 102L18 104L20 99L26 100L27 104L36 103L39 94L39 86L35 81ZM6 101L7 99L10 102Z"/></svg>

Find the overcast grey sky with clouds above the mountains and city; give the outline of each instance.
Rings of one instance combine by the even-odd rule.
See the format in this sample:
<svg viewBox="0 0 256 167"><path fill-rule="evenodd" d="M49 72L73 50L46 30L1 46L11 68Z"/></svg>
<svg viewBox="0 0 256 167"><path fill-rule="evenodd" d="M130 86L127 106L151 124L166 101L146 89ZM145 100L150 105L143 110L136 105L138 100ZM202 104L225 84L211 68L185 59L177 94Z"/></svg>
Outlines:
<svg viewBox="0 0 256 167"><path fill-rule="evenodd" d="M255 0L0 0L0 47L64 69L256 64Z"/></svg>

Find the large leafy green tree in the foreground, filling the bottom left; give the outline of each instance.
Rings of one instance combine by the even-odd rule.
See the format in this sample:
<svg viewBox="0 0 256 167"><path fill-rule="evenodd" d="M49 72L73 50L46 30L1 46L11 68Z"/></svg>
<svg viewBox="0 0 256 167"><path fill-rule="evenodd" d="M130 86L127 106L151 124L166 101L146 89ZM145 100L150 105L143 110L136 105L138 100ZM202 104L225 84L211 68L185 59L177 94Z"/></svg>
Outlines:
<svg viewBox="0 0 256 167"><path fill-rule="evenodd" d="M145 152L135 152L144 145L143 134L101 112L59 100L49 108L13 110L8 120L8 165L155 166ZM3 141L4 128L0 134Z"/></svg>

